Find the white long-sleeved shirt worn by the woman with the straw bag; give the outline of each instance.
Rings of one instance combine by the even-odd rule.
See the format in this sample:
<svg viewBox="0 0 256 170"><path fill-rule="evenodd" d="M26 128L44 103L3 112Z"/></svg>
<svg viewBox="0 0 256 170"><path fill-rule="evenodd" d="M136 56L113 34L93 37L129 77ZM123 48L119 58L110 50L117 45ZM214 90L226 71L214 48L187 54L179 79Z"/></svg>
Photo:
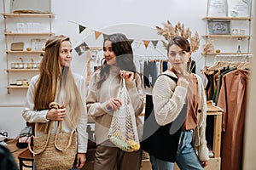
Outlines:
<svg viewBox="0 0 256 170"><path fill-rule="evenodd" d="M34 111L34 90L35 86L38 82L38 77L39 75L32 77L32 80L30 82L27 94L26 94L26 105L24 110L22 111L22 116L26 120L26 122L36 122L36 128L38 126L37 122L49 122L49 120L46 119L47 112L49 110L43 110L43 111ZM78 74L73 73L73 78L74 81L76 82L77 87L79 88L79 92L81 94L81 98L83 102L85 103L85 80L84 77ZM58 87L59 88L59 87ZM58 92L58 90L57 90ZM61 89L60 94L56 94L55 97L55 102L57 103L63 103L63 97L61 94L64 94L65 91ZM68 113L67 113L68 114ZM57 121L53 122L53 129L51 133L56 133L57 130ZM78 152L79 153L86 153L87 151L87 142L88 142L88 133L86 132L86 127L87 127L87 111L86 108L84 107L84 111L81 114L81 117L79 118L78 125L76 127L77 133L78 133ZM65 133L71 132L73 129L69 127L68 125L68 119L64 119L62 121L62 130ZM36 136L41 136L43 135L44 132L35 132Z"/></svg>

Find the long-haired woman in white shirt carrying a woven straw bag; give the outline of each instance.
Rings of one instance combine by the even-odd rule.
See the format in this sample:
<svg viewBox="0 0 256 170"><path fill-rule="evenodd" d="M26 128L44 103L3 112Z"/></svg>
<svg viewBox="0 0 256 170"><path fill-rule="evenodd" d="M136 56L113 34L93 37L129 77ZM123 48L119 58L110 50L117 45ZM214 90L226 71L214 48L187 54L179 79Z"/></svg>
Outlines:
<svg viewBox="0 0 256 170"><path fill-rule="evenodd" d="M61 35L49 38L45 44L40 73L32 77L30 82L22 116L26 122L35 122L35 136L44 134L45 123L49 121L53 122L51 133L56 133L58 121L62 123L63 132L76 129L78 145L74 167L82 168L86 161L88 141L85 80L69 68L72 50L69 37ZM61 108L49 108L51 102L58 103Z"/></svg>

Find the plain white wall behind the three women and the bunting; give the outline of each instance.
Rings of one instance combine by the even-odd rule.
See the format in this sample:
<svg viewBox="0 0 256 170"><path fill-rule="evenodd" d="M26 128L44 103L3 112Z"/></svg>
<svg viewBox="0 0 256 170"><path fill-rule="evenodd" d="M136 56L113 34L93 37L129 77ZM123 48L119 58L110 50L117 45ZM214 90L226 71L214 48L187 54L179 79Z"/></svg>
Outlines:
<svg viewBox="0 0 256 170"><path fill-rule="evenodd" d="M0 0L0 4L2 7L3 0ZM52 12L55 14L53 32L71 37L73 47L83 40L91 47L102 47L102 36L95 40L94 34L86 35L86 31L79 34L79 24L106 34L123 32L139 42L163 39L157 35L155 26L162 27L163 22L170 20L173 25L178 21L183 23L186 28L190 28L192 34L198 31L201 36L205 34L206 23L201 19L207 14L207 0L53 0ZM0 13L3 13L3 8L0 8ZM0 132L8 131L9 137L14 138L25 124L20 113L26 90L12 90L11 94L7 94L7 74L3 71L6 68L3 16L0 18L0 25ZM203 38L201 47L202 44ZM160 42L157 50L152 48L152 44L149 44L148 49L143 48L143 45L137 48L133 44L133 47L139 55L166 54ZM197 73L200 73L205 65L205 59L201 58L201 48L193 54L193 59L201 59L197 65ZM73 53L73 71L84 74L84 65L85 56Z"/></svg>

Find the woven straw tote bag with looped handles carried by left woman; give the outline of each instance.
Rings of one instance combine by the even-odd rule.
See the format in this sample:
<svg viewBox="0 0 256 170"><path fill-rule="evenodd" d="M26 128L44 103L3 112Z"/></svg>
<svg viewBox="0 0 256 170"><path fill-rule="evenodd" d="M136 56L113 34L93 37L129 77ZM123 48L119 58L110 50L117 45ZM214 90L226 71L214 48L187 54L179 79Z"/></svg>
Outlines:
<svg viewBox="0 0 256 170"><path fill-rule="evenodd" d="M67 170L73 167L77 150L77 133L63 133L61 121L58 122L57 133L50 133L52 122L47 122L44 135L33 139L33 150L31 140L29 150L34 154L37 170Z"/></svg>

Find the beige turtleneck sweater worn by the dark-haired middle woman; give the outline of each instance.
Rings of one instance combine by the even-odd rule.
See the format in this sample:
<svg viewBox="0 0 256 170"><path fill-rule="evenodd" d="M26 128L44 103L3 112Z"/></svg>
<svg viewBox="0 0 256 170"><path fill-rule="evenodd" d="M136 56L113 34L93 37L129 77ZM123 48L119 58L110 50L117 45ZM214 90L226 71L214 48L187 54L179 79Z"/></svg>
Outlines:
<svg viewBox="0 0 256 170"><path fill-rule="evenodd" d="M96 144L101 144L108 139L113 111L108 110L106 105L108 99L117 97L120 86L119 68L115 65L111 65L108 78L102 83L101 88L97 89L96 82L98 82L99 79L100 70L97 70L92 77L90 77L86 98L88 114L96 121ZM128 89L128 94L130 95L131 103L135 111L139 139L141 139L143 131L143 123L138 117L143 111L143 90L141 83L142 81L139 75L135 76L134 81L126 82L126 88Z"/></svg>

